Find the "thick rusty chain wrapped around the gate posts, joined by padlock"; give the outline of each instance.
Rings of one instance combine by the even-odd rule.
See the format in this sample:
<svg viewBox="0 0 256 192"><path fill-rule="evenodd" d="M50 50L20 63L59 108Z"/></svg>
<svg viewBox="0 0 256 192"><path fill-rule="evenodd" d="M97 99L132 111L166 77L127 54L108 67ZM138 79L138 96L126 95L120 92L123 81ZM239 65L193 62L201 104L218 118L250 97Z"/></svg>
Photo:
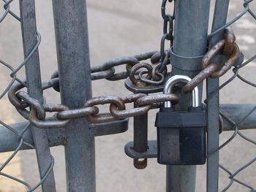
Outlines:
<svg viewBox="0 0 256 192"><path fill-rule="evenodd" d="M225 74L238 59L239 48L235 40L236 37L233 34L233 30L226 28L224 39L211 47L204 56L202 61L203 70L188 82L187 85L184 85L182 91L189 93L207 77L217 78ZM227 58L222 66L217 66L217 64L212 63L211 60L221 50L227 55ZM168 54L167 51L165 51L165 53ZM152 65L140 63L140 61L148 58L151 59ZM165 75L167 74L167 69L162 73L159 72L159 69L162 67L161 59L161 52L157 51L141 53L131 57L116 58L105 62L102 66L92 67L91 79L99 80L106 78L107 80L121 80L129 76L130 80L138 87L144 86L146 83L159 85L164 82ZM169 58L165 57L165 60L168 62ZM155 64L156 62L159 63ZM126 65L127 70L125 72L116 73L115 67L123 64ZM146 74L146 77L144 77L143 74ZM25 85L26 82L12 86L8 92L8 97L20 115L39 128L63 127L67 125L72 118L86 118L91 123L105 123L142 115L148 112L148 110L161 107L164 101L178 101L178 96L166 93L150 96L144 93L121 97L99 96L86 101L82 108L70 110L69 107L62 104L41 104L37 99L31 98L28 93L20 91ZM51 80L42 83L42 90L53 87L59 91L58 86L59 74L55 72ZM137 107L127 110L125 104L133 102ZM99 113L99 108L97 107L99 104L110 104L110 112ZM31 107L31 110L26 110L27 107ZM46 112L56 112L56 114L51 118L45 118Z"/></svg>

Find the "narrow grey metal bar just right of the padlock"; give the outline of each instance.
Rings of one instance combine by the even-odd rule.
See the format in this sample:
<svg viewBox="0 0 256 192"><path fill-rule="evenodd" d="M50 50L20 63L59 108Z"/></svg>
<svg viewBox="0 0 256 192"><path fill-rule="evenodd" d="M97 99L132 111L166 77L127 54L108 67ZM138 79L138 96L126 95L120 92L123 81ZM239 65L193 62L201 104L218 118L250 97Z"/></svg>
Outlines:
<svg viewBox="0 0 256 192"><path fill-rule="evenodd" d="M216 31L218 28L225 25L227 20L227 9L229 0L216 0L214 9L214 21L211 31ZM214 45L223 37L223 30L219 31L210 39L210 46ZM219 88L219 79L207 79L207 96L210 96L217 88ZM208 117L208 153L219 147L219 92L216 93L207 103ZM212 153L207 159L207 191L218 191L219 184L219 151Z"/></svg>

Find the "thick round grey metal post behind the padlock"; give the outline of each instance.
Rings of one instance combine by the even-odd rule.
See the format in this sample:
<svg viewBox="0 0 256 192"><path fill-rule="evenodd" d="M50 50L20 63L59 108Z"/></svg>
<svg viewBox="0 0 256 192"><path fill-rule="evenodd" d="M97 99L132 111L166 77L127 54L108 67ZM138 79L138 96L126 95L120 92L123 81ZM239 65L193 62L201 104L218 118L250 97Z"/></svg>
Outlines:
<svg viewBox="0 0 256 192"><path fill-rule="evenodd" d="M184 57L197 57L206 53L208 15L210 0L177 0L176 20L174 27L173 53ZM176 59L176 66L189 66L189 61ZM200 66L200 61L198 66ZM195 77L195 69L182 70L173 68L174 74L185 74ZM202 93L202 86L200 93ZM201 97L201 96L200 96ZM181 96L179 110L187 110L187 96ZM194 192L196 166L167 166L167 192Z"/></svg>

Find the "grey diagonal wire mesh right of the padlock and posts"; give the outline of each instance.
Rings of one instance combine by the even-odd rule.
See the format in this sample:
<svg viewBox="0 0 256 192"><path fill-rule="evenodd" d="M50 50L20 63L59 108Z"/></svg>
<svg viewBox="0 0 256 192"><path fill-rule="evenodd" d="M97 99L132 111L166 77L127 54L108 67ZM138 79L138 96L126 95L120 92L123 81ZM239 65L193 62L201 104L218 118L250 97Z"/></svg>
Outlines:
<svg viewBox="0 0 256 192"><path fill-rule="evenodd" d="M249 17L251 17L254 21L256 20L256 15L253 12L253 10L250 7L250 4L252 4L253 0L246 0L246 1L242 1L242 4L244 6L244 9L241 12L236 13L236 17L232 18L231 20L229 20L227 22L227 24L225 26L222 26L221 28L219 28L217 31L214 31L213 33L211 33L208 37L212 37L214 34L217 34L218 31L221 31L223 28L226 28L227 26L232 26L234 23L238 22L244 15L249 15ZM238 5L238 4L237 4ZM240 5L240 4L239 4ZM233 13L235 14L235 13ZM254 23L247 23L247 25L253 25ZM253 26L252 26L253 28ZM253 29L251 31L251 34L253 35ZM243 32L246 33L245 30L243 30ZM249 33L250 31L247 31L247 33ZM236 34L236 30L235 30L235 34ZM249 54L253 53L253 49L249 49ZM255 54L255 53L253 53ZM246 55L246 54L245 54ZM252 86L253 88L256 87L255 82L252 82L251 80L247 80L246 77L243 77L241 74L239 74L239 70L241 70L244 66L250 64L255 58L256 55L246 55L246 57L248 57L248 59L246 59L246 61L244 61L243 64L240 64L238 66L233 67L232 71L233 71L233 76L230 77L227 81L225 81L224 83L222 83L222 85L219 86L219 88L214 91L214 93L211 96L214 96L214 94L216 94L217 92L219 92L220 90L222 90L222 88L225 88L225 86L229 85L230 82L233 82L233 80L235 80L236 78L238 80L241 80L242 82L246 83L247 85ZM249 90L248 90L248 93ZM211 96L208 96L208 98L205 100L205 102L207 103L208 99L211 98ZM243 134L243 131L239 130L239 125L241 123L244 122L244 120L246 120L246 118L249 117L249 115L252 114L252 112L254 112L256 110L256 107L253 107L252 110L250 110L247 114L244 114L241 118L241 120L233 120L231 118L228 118L227 115L220 111L219 114L222 116L222 118L224 118L225 120L227 120L230 124L232 124L233 126L233 134L231 135L230 138L228 138L225 142L223 142L217 150L223 150L225 149L225 147L227 147L227 145L230 145L230 143L234 142L234 139L236 137L241 137L241 139L244 139L244 141L252 143L253 145L256 144L255 140L247 137L245 134ZM213 152L209 152L208 155L212 155L213 153L215 153L217 150L213 151ZM227 151L227 150L225 150ZM237 151L237 153L239 153L239 151ZM230 164L236 164L233 160L232 160L232 156L230 156L229 158L229 164L222 164L221 162L219 162L219 169L222 169L224 172L227 173L228 175L228 179L230 180L229 183L227 183L227 185L225 186L225 188L220 189L221 191L229 191L230 188L234 185L234 183L237 183L238 185L243 186L243 190L249 190L249 191L255 191L255 186L253 186L253 184L255 183L246 183L246 178L249 178L250 175L248 175L247 177L244 178L238 178L238 174L241 174L241 172L244 172L245 169L249 169L250 166L252 166L253 163L255 163L256 161L256 156L255 154L252 157L252 159L250 161L244 162L242 166L238 166L236 167L236 169L234 169L233 171L230 171L230 169L228 169L227 167L230 166ZM243 158L241 158L243 159ZM236 189L237 191L237 189ZM240 191L240 190L239 190Z"/></svg>

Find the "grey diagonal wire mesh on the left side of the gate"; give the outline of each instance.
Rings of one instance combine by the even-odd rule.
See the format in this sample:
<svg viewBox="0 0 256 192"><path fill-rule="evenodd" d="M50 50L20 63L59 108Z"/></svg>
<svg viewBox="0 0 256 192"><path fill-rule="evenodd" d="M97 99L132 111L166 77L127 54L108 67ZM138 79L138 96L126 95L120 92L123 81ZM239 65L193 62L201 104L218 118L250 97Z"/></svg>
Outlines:
<svg viewBox="0 0 256 192"><path fill-rule="evenodd" d="M4 1L4 5L3 5L4 12L0 15L0 23L5 18L7 18L8 16L12 17L13 19L17 20L18 23L20 23L19 16L15 12L12 12L12 10L10 8L11 3L12 3L13 0L10 0L10 1L3 0L3 1ZM3 61L3 60L0 60L0 63L2 64L2 66L5 66L7 69L10 70L10 77L11 77L11 80L10 80L9 84L7 85L7 87L4 89L4 91L1 91L0 99L2 99L4 96L7 95L7 92L10 90L10 88L12 87L12 85L15 82L19 82L20 84L24 85L24 87L27 87L26 81L20 80L20 78L18 78L18 72L20 72L20 70L23 69L26 62L29 60L29 58L31 58L31 56L37 50L37 48L39 47L40 42L41 42L41 37L40 37L40 34L37 33L37 43L36 43L36 45L34 45L31 52L29 53L29 55L26 58L24 58L24 60L20 64L18 64L18 66L15 66L14 64L11 65L11 64L8 64L7 62ZM30 74L30 75L33 75L33 74ZM16 147L14 152L10 155L9 158L7 158L7 160L3 164L1 164L1 166L0 166L0 177L7 177L10 180L13 180L17 183L25 185L26 188L27 188L26 191L28 191L28 192L35 191L40 185L42 185L42 183L48 177L50 172L53 170L53 165L54 165L53 156L51 156L51 163L50 163L50 165L47 169L47 172L45 173L45 175L42 176L42 179L39 180L39 182L34 186L29 185L29 183L26 183L24 180L20 180L18 177L13 177L10 174L4 173L4 168L6 168L7 166L12 166L12 165L10 165L10 162L13 160L15 155L18 154L19 150L21 149L21 147L23 147L23 145L27 145L30 148L34 148L34 145L29 143L29 142L26 142L26 140L23 139L23 134L25 134L26 131L30 131L29 130L29 124L30 123L27 123L27 125L25 127L23 127L22 131L20 131L20 132L16 131L14 128L12 128L12 126L7 125L7 123L4 123L3 120L0 120L0 124L2 126L4 126L5 128L7 128L9 131L12 131L12 133L17 136L17 139L19 141L19 145ZM0 191L1 191L1 189L0 189Z"/></svg>

